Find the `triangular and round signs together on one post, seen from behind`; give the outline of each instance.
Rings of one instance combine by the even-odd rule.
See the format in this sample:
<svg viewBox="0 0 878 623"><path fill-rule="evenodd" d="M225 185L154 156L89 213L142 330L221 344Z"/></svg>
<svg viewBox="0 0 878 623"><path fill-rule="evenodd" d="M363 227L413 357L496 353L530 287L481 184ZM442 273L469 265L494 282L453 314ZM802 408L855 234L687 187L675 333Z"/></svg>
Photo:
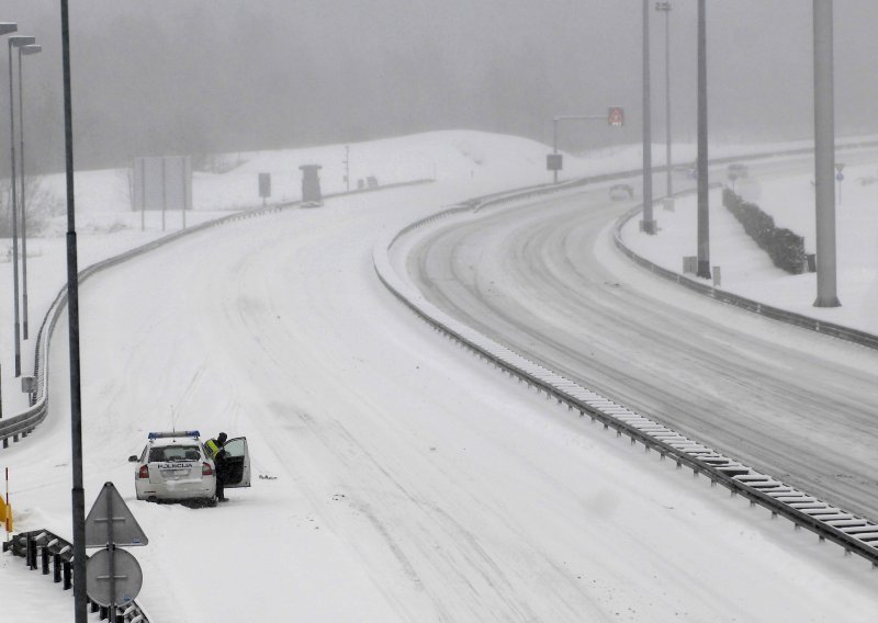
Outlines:
<svg viewBox="0 0 878 623"><path fill-rule="evenodd" d="M86 590L91 600L110 609L115 621L116 607L134 600L143 586L143 571L136 558L117 545L146 545L149 540L134 519L113 483L104 483L86 518L86 547L104 547L86 567Z"/></svg>

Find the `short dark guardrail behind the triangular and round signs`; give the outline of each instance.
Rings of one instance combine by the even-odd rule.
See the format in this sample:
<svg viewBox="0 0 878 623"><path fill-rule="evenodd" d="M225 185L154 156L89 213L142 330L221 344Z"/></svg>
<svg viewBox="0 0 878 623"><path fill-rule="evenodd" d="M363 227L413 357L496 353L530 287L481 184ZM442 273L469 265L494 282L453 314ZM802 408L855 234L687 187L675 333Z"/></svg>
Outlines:
<svg viewBox="0 0 878 623"><path fill-rule="evenodd" d="M13 556L24 558L31 570L40 569L42 575L52 575L55 584L60 584L64 590L69 590L76 581L74 576L74 546L69 541L49 532L48 530L32 530L15 534L9 543L3 543L3 552L11 551ZM85 581L85 578L83 578ZM115 618L110 616L110 609L88 600L90 612L97 612L99 619L112 623L149 623L143 607L136 600L119 605Z"/></svg>

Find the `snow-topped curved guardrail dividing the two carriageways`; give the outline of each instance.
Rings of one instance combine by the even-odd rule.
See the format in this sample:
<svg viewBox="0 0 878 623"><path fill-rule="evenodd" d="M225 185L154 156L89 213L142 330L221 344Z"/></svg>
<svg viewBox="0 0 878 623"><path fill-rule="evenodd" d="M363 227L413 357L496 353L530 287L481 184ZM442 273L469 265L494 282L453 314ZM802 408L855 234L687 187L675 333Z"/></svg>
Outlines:
<svg viewBox="0 0 878 623"><path fill-rule="evenodd" d="M695 440L679 434L661 422L641 416L592 389L582 387L528 359L525 354L515 352L491 340L429 303L416 288L404 282L396 274L391 263L390 252L396 242L413 230L439 219L455 214L477 212L488 205L528 200L553 191L558 192L574 188L575 185L607 181L624 174L630 174L630 172L611 177L587 178L575 183L559 184L551 188L537 186L522 189L521 191L510 191L471 200L447 208L408 225L395 236L379 243L373 249L372 254L374 270L385 287L409 309L436 330L469 348L480 358L497 366L502 372L518 378L520 383L526 383L529 387L536 387L539 392L544 392L547 397L558 400L559 404L567 405L570 410L577 410L579 416L588 415L592 421L603 422L605 429L615 429L619 437L629 437L631 443L642 443L648 452L655 450L661 458L665 456L672 457L676 461L677 467L685 465L693 469L695 475L703 474L710 478L711 485L720 484L728 488L732 495L741 495L748 499L751 506L759 505L768 509L772 512L772 518L777 516L785 517L796 528L806 528L817 534L821 541L829 540L838 544L844 548L845 555L857 554L869 560L873 568L878 567L878 523L846 512L800 489L788 486L781 480L756 472L734 458L724 456ZM617 240L621 225L641 209L642 206L637 206L619 219L619 224L617 224ZM638 261L638 257L630 250L627 254ZM645 262L645 260L640 260ZM671 273L671 271L665 271L658 267L655 268L657 269L656 272L666 273L669 279L679 276ZM694 283L693 286L695 290L710 294L714 298L723 299L716 295L710 286L698 283ZM774 313L797 316L784 314L783 310L775 310Z"/></svg>

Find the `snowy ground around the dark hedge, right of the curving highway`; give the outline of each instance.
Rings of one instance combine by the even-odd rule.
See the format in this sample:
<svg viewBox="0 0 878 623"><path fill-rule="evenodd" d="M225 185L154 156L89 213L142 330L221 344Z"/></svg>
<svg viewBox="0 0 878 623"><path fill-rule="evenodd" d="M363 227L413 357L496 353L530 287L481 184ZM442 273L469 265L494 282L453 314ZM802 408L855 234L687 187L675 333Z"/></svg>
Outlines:
<svg viewBox="0 0 878 623"><path fill-rule="evenodd" d="M818 308L817 273L790 275L772 264L768 256L754 245L743 227L722 206L721 191L710 197L710 260L720 267L719 287L741 296L789 309L845 327L878 333L878 156L875 150L840 152L838 161L847 161L841 184L841 203L836 205L837 294L841 307ZM747 201L772 215L777 227L791 229L804 237L806 252L815 250L813 165L811 159L792 159L806 169L790 174L784 161L784 173L777 161L751 167L752 177L736 182L736 191ZM725 179L724 168L712 173L711 181ZM836 185L837 189L837 185ZM836 202L838 202L836 193ZM673 212L656 207L657 236L638 233L638 219L628 223L623 240L639 254L654 263L682 272L684 256L697 254L697 199L678 199Z"/></svg>

